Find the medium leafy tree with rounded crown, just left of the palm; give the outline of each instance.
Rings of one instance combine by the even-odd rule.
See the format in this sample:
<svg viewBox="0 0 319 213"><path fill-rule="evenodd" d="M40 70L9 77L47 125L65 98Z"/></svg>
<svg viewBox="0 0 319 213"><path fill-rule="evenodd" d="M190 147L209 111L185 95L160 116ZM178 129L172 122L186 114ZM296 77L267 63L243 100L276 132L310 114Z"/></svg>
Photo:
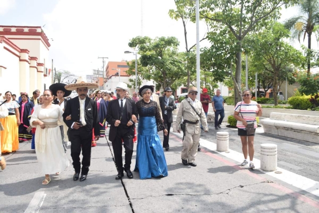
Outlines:
<svg viewBox="0 0 319 213"><path fill-rule="evenodd" d="M291 67L302 67L305 60L302 52L284 41L289 36L290 31L279 22L255 36L259 42L254 48L252 61L255 67L272 75L275 105L278 105L278 86L286 77L292 77Z"/></svg>

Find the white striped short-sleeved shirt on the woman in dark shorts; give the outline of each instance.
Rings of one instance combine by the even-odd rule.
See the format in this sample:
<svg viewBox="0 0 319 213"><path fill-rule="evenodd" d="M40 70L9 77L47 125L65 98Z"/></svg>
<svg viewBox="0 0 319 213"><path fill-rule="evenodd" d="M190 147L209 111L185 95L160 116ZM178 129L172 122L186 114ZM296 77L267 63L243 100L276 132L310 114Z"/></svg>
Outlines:
<svg viewBox="0 0 319 213"><path fill-rule="evenodd" d="M239 112L239 116L244 118L247 123L254 122L254 128L257 128L256 115L259 111L256 101L250 101L246 104L244 101L238 102L235 106L235 112ZM237 128L246 129L241 121L237 121Z"/></svg>

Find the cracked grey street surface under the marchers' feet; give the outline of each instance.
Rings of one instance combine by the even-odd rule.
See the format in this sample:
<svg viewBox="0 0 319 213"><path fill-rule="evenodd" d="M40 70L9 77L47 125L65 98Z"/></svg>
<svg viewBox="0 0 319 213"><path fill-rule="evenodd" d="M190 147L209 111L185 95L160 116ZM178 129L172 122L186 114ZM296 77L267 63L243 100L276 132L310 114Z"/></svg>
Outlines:
<svg viewBox="0 0 319 213"><path fill-rule="evenodd" d="M212 136L203 133L202 138L213 137L211 128L209 133ZM159 135L162 140L162 132ZM208 148L202 147L198 152L197 167L182 165L179 137L171 133L170 149L164 151L168 168L165 178L140 180L139 174L133 172L134 179L125 175L122 181L115 180L112 144L101 138L97 147L92 148L90 172L85 182L72 180L74 171L70 165L59 176L51 176L48 186L41 185L44 176L30 143L21 143L18 152L4 156L7 168L0 172L0 212L319 212L316 196L307 193L304 196L304 191L259 170L241 168L239 162L209 150L213 141L202 140L201 145ZM67 155L71 161L69 148Z"/></svg>

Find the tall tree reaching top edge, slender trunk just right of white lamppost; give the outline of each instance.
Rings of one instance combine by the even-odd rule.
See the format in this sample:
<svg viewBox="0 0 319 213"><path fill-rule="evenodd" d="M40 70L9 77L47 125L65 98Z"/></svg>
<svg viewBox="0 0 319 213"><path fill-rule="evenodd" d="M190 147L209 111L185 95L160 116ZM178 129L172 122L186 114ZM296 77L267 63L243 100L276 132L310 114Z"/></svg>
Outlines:
<svg viewBox="0 0 319 213"><path fill-rule="evenodd" d="M229 48L232 51L226 52L226 63L220 64L221 67L215 67L218 71L225 71L230 62L235 58L236 71L234 76L236 102L241 99L241 63L242 52L244 50L244 40L252 32L259 31L267 26L269 20L279 17L279 8L283 5L289 5L295 0L202 0L200 4L200 15L209 24L211 29L218 33L227 28L233 40L224 39L224 45L220 46L224 53ZM229 37L229 36L228 36ZM208 37L209 41L216 43L216 39ZM229 42L231 41L231 42ZM212 44L213 45L213 44ZM231 46L231 47L229 47ZM219 51L214 52L220 54ZM235 53L235 54L234 54ZM212 58L212 57L211 57ZM221 63L221 62L220 62Z"/></svg>

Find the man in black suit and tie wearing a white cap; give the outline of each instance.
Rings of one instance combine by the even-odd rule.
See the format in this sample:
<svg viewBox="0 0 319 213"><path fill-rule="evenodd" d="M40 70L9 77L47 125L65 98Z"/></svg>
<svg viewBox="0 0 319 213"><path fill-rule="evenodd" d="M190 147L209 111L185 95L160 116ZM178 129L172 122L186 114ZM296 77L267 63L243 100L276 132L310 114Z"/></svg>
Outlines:
<svg viewBox="0 0 319 213"><path fill-rule="evenodd" d="M135 101L125 98L128 89L126 83L118 83L116 87L117 99L109 102L106 121L110 124L109 140L112 142L115 164L118 175L116 180L121 179L126 172L128 178L133 178L131 161L133 155L133 138L135 123L137 122L137 108ZM123 168L122 140L125 148L125 164Z"/></svg>

